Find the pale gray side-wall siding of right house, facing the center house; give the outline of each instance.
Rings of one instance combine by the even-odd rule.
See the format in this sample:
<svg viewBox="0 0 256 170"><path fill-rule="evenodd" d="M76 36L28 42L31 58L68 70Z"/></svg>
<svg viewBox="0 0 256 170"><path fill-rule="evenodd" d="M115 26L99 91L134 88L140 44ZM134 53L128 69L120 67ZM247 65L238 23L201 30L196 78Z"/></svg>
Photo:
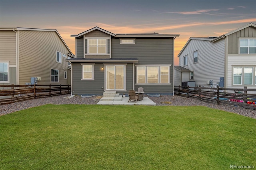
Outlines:
<svg viewBox="0 0 256 170"><path fill-rule="evenodd" d="M194 63L193 52L198 50L198 63ZM188 55L188 65L184 66L184 56ZM179 65L194 71L196 86L210 87L206 81L220 82L225 71L225 41L210 43L204 40L191 40L180 54Z"/></svg>

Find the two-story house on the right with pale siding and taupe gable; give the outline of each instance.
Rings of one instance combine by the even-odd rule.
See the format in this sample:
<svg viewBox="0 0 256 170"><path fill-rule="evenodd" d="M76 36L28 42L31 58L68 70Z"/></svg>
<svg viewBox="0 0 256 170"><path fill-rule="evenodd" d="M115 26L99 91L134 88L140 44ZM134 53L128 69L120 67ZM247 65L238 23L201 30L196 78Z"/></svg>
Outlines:
<svg viewBox="0 0 256 170"><path fill-rule="evenodd" d="M179 65L189 69L196 86L218 83L225 88L256 87L256 25L247 24L217 38L190 38ZM180 73L175 73L176 75Z"/></svg>

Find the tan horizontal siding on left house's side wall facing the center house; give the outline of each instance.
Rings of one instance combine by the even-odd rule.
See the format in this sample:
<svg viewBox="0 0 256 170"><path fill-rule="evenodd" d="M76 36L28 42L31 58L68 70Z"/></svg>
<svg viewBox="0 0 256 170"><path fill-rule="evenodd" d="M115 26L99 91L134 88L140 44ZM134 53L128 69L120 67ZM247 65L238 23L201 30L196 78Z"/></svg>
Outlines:
<svg viewBox="0 0 256 170"><path fill-rule="evenodd" d="M62 57L62 63L56 62L56 51L68 56L68 49L53 31L19 30L19 75L20 85L30 83L30 77L41 77L38 84L68 84L64 71L68 71L68 62ZM59 82L51 82L51 69L59 70ZM69 78L69 77L68 77Z"/></svg>

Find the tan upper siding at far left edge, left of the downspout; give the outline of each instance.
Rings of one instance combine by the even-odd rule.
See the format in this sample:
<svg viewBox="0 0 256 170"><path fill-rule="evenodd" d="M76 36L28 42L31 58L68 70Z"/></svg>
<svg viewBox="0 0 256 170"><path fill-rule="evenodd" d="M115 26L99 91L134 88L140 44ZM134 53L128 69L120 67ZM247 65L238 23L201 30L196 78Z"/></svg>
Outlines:
<svg viewBox="0 0 256 170"><path fill-rule="evenodd" d="M0 31L0 61L9 61L16 65L16 33L14 31Z"/></svg>

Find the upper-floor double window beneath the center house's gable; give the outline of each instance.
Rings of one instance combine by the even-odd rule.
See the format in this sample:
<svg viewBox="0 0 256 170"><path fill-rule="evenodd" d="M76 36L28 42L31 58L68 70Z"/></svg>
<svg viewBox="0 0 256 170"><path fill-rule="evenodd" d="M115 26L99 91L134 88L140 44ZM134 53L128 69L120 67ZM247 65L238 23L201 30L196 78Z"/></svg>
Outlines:
<svg viewBox="0 0 256 170"><path fill-rule="evenodd" d="M106 39L88 39L88 53L90 54L106 54Z"/></svg>

